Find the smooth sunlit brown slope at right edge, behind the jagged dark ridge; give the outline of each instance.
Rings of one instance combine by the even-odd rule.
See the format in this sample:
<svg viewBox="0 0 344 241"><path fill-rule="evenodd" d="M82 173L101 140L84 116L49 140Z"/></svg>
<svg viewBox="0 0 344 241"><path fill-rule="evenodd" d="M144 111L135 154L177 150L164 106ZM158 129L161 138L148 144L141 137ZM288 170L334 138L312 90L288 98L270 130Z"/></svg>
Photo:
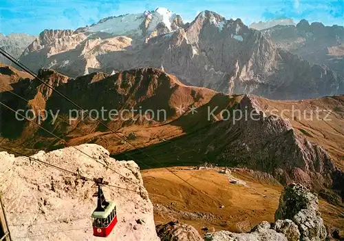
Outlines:
<svg viewBox="0 0 344 241"><path fill-rule="evenodd" d="M299 134L303 134L307 136L308 140L321 145L331 154L336 165L344 169L343 95L303 101L272 101L266 98L257 98L257 100L267 113L272 112L272 109L278 109L279 116L283 115L283 118L288 118L292 127ZM294 115L292 108L294 108ZM316 109L319 109L319 119L316 118ZM283 110L285 112L281 113ZM301 115L298 114L298 111L301 112ZM329 121L324 121L325 117Z"/></svg>

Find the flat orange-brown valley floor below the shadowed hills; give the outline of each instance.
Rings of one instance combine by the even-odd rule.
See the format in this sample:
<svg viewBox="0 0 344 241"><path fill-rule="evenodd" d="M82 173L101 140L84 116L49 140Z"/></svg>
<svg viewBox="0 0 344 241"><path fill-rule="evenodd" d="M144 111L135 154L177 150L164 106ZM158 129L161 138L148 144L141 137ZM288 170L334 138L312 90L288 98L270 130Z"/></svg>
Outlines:
<svg viewBox="0 0 344 241"><path fill-rule="evenodd" d="M156 223L179 220L205 233L204 227L246 232L263 220L274 222L283 189L278 183L239 169L229 174L232 180L241 180L237 183L230 183L228 174L217 169L170 169L199 191L166 169L141 171ZM326 224L344 230L343 209L324 200L319 206Z"/></svg>

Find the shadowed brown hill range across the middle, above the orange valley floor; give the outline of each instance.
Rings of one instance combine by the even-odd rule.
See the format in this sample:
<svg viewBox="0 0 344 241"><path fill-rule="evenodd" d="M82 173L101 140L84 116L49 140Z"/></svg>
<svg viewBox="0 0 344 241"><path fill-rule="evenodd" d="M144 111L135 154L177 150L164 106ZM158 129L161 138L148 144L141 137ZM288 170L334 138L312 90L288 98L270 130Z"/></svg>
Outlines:
<svg viewBox="0 0 344 241"><path fill-rule="evenodd" d="M175 76L151 68L111 76L94 73L75 79L54 70L41 70L39 76L84 109L100 112L102 107L118 111L134 108L142 109L142 113L147 109L155 113L163 109L166 118L149 114L139 118L142 116L137 113L133 116L127 113L126 120L111 121L105 116L103 122L116 134L92 118L78 118L69 123L69 110L75 109L72 104L37 81L29 85L20 81L14 92L27 98L30 105L10 93L4 93L12 97L3 98L3 101L14 109L32 108L36 114L41 109L59 111L55 122L48 115L41 125L64 141L33 123L16 121L12 113L2 108L2 134L6 138L4 141L13 148L34 152L36 149L98 143L117 159L136 160L142 168L204 162L248 167L272 174L283 184L301 182L322 192L331 202L341 203L336 193L325 190L342 191L343 196L343 96L308 101L228 96L183 85ZM333 109L332 121L288 121L286 116L279 116L283 109L291 106L301 112L316 107ZM191 107L197 108L196 112L191 112ZM273 108L278 111L274 113L277 117L270 113ZM213 115L209 115L211 109L214 109ZM224 115L222 110L226 111ZM238 112L253 113L256 120L250 116L238 118ZM228 120L224 119L226 114L230 115ZM136 147L144 147L149 155L133 151L132 145L122 138Z"/></svg>

